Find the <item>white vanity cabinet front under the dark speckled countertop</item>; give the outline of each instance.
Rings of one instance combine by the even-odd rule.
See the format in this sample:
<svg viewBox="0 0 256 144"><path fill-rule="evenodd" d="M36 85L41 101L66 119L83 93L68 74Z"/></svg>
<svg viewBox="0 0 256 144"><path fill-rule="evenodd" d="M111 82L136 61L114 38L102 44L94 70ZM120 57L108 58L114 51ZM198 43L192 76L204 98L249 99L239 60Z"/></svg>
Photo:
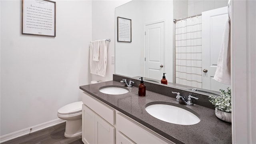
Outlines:
<svg viewBox="0 0 256 144"><path fill-rule="evenodd" d="M152 130L84 92L84 144L172 144Z"/></svg>

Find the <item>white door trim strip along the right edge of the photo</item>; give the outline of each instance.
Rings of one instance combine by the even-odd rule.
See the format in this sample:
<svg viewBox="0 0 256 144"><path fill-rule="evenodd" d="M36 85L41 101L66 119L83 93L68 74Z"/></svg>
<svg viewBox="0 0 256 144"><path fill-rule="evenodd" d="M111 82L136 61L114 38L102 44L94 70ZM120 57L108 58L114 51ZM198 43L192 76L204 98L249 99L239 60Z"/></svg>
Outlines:
<svg viewBox="0 0 256 144"><path fill-rule="evenodd" d="M256 144L256 1L231 1L232 142Z"/></svg>

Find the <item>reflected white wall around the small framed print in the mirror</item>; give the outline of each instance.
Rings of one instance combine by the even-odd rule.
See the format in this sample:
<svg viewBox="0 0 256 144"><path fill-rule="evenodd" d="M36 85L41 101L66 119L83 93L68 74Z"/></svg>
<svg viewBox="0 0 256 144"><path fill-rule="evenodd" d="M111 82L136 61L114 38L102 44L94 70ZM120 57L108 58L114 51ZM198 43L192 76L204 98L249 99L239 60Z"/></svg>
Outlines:
<svg viewBox="0 0 256 144"><path fill-rule="evenodd" d="M132 42L117 42L117 18L132 20ZM116 8L116 74L143 76L143 9L142 1L128 2Z"/></svg>

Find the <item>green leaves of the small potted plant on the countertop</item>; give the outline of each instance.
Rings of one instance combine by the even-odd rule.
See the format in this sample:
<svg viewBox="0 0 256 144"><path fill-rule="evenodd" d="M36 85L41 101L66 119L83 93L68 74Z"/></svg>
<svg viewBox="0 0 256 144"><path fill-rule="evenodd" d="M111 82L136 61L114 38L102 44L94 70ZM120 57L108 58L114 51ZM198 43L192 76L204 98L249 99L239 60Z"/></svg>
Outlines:
<svg viewBox="0 0 256 144"><path fill-rule="evenodd" d="M231 90L220 89L220 96L209 96L209 102L211 102L216 108L224 112L231 112Z"/></svg>

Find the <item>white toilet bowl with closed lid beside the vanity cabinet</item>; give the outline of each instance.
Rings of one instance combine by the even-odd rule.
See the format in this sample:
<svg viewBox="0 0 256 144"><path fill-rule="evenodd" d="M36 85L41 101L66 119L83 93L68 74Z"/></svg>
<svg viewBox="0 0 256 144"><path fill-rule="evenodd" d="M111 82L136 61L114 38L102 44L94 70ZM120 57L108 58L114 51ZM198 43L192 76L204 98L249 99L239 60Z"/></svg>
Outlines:
<svg viewBox="0 0 256 144"><path fill-rule="evenodd" d="M58 110L57 116L66 120L66 138L82 135L82 104L82 101L73 102Z"/></svg>

